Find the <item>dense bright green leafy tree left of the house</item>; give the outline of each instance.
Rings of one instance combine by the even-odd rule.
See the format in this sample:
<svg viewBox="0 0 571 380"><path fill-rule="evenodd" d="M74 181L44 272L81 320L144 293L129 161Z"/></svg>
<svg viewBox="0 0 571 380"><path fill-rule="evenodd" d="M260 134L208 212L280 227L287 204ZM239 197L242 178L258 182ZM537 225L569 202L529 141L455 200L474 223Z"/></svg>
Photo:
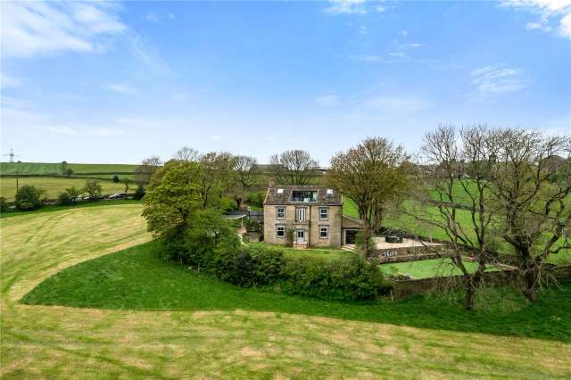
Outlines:
<svg viewBox="0 0 571 380"><path fill-rule="evenodd" d="M177 239L184 235L194 211L200 209L203 169L197 162L169 161L151 178L143 216L155 235Z"/></svg>

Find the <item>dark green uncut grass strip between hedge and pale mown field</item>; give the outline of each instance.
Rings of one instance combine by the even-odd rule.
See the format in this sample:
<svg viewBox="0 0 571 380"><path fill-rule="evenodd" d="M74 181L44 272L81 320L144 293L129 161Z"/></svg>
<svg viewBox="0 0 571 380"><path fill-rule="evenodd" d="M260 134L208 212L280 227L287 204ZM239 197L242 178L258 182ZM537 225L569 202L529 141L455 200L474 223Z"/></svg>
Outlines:
<svg viewBox="0 0 571 380"><path fill-rule="evenodd" d="M161 260L160 252L161 244L154 241L83 262L46 279L22 302L120 310L239 308L571 342L571 318L559 324L550 319L571 312L569 302L560 308L560 302L571 296L571 285L543 293L542 302L534 305L503 289L500 292L513 302L508 310L492 305L476 313L462 310L459 301L426 297L401 302L323 302L229 285Z"/></svg>

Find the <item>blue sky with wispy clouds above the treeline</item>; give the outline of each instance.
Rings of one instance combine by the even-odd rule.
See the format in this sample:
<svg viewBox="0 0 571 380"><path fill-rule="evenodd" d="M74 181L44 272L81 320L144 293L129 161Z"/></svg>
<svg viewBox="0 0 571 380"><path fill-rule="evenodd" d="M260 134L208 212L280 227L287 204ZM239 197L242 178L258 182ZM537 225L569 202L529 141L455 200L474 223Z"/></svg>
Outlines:
<svg viewBox="0 0 571 380"><path fill-rule="evenodd" d="M571 0L2 2L1 150L268 162L438 124L571 132ZM7 157L3 157L5 161Z"/></svg>

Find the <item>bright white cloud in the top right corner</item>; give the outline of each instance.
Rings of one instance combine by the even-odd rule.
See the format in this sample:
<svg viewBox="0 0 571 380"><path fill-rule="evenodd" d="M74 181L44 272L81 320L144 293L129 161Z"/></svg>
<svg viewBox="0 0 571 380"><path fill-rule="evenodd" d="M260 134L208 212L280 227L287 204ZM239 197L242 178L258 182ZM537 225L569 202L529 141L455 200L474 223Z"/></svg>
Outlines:
<svg viewBox="0 0 571 380"><path fill-rule="evenodd" d="M501 6L536 14L539 21L527 22L525 29L550 31L550 23L554 22L559 23L560 36L571 38L571 0L503 0Z"/></svg>

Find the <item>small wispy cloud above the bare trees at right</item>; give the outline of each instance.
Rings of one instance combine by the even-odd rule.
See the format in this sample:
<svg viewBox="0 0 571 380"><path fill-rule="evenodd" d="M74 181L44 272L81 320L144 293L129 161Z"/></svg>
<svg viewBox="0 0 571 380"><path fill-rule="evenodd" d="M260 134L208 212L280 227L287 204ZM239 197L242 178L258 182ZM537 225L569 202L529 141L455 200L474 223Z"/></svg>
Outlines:
<svg viewBox="0 0 571 380"><path fill-rule="evenodd" d="M521 76L521 70L502 64L489 65L470 73L471 86L476 95L501 95L521 91L528 81Z"/></svg>

